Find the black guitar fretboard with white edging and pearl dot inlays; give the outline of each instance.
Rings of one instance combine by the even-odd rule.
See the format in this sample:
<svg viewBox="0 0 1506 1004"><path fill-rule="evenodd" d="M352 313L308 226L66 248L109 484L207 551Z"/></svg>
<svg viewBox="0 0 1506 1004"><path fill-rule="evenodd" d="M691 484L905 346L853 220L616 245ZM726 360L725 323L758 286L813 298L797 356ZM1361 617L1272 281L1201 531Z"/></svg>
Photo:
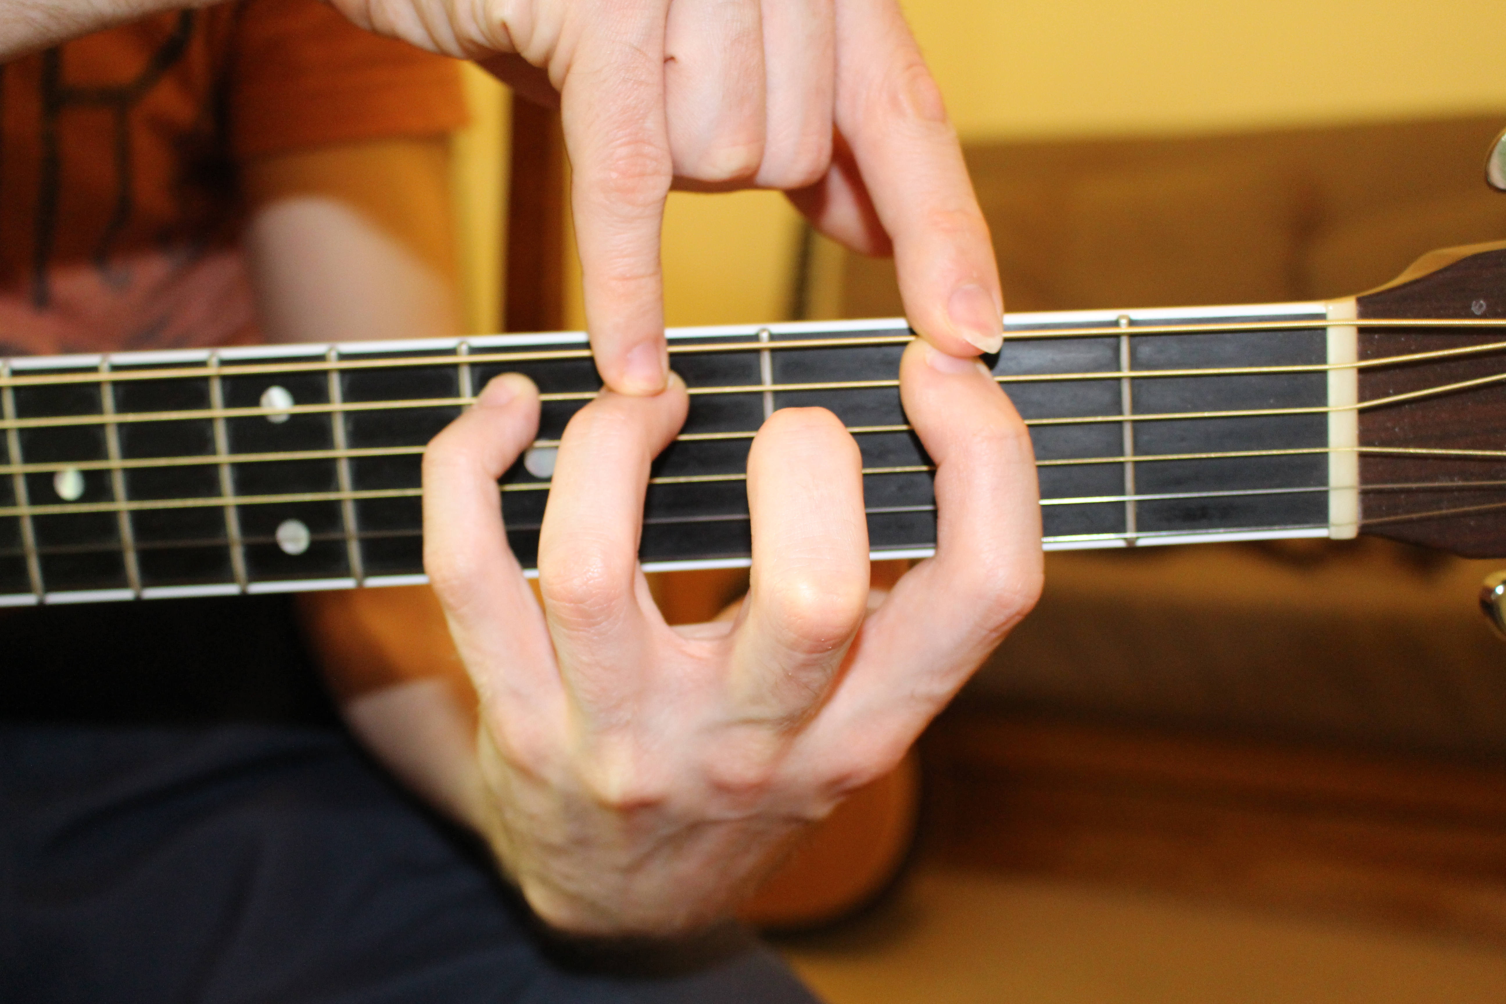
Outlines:
<svg viewBox="0 0 1506 1004"><path fill-rule="evenodd" d="M1012 315L1006 333L994 373L1030 424L1045 546L1333 531L1324 304ZM911 337L902 321L672 331L691 406L654 467L645 567L747 563L747 450L789 405L855 437L875 557L929 554L932 467L898 388ZM503 372L544 397L498 492L530 567L553 452L599 388L581 334L9 360L0 605L423 581L423 446Z"/></svg>

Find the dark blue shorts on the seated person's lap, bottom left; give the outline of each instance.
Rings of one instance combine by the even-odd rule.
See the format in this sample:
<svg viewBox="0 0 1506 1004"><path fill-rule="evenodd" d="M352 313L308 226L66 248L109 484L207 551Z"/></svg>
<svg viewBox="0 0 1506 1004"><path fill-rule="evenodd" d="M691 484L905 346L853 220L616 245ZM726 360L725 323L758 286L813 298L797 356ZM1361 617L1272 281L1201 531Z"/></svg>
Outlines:
<svg viewBox="0 0 1506 1004"><path fill-rule="evenodd" d="M813 1001L741 929L548 938L328 721L6 718L3 1001Z"/></svg>

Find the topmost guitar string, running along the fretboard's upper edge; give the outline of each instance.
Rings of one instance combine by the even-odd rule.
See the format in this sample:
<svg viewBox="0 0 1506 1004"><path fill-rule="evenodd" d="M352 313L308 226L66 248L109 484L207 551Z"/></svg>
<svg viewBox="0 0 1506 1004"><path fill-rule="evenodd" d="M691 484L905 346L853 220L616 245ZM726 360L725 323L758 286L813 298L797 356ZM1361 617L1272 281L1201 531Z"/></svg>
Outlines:
<svg viewBox="0 0 1506 1004"><path fill-rule="evenodd" d="M1008 322L1008 318L1006 318ZM1131 328L1134 337L1142 336L1172 336L1172 334L1235 334L1235 333L1254 333L1254 331L1310 331L1318 328L1366 328L1366 330L1411 330L1411 328L1438 328L1449 331L1468 331L1468 330L1489 330L1489 328L1506 328L1506 318L1384 318L1384 319L1322 319L1322 318L1307 318L1294 321L1229 321L1229 322L1196 322L1196 324L1143 324ZM1105 322L1104 325L1084 325L1084 327L1053 327L1053 328L1014 328L1005 331L1005 342L1038 342L1050 339L1090 339L1090 337L1113 337L1117 339L1123 334L1123 328L1117 327L1114 322ZM914 334L872 334L858 337L816 337L816 339L791 339L788 342L759 342L758 333L750 331L747 334L715 334L715 336L691 336L691 337L706 337L706 339L742 339L742 340L726 340L726 342L700 342L700 343L684 343L670 342L670 355L717 355L717 354L735 354L735 352L761 352L773 349L822 349L822 348L864 348L864 346L886 346L886 345L908 345L916 339ZM465 343L464 340L461 343ZM375 343L369 343L375 345ZM336 346L339 348L339 346ZM297 354L294 346L289 346L291 354ZM425 349L399 349L399 352L414 352ZM309 354L312 357L312 352ZM99 364L95 360L102 361L104 357L83 357L83 361L68 360L66 357L57 363L57 369L74 369L78 372L50 372L50 373L35 373L35 375L17 375L15 372L9 375L0 375L0 387L32 387L32 385L63 385L63 384L95 384L99 382L98 375L93 372ZM309 358L309 357L306 357ZM369 369L419 369L419 367L435 367L435 366L486 366L486 364L509 364L509 363L536 363L536 361L568 361L568 360L589 360L592 358L589 348L574 348L574 349L520 349L520 351L503 351L503 352L470 352L462 354L453 351L446 355L381 355L376 352L358 352L352 357L339 357L334 360L319 358L309 361L277 361L277 363L232 363L220 366L218 370L205 364L199 367L188 366L157 366L155 369L148 366L143 369L134 369L130 363L130 355L123 354L113 357L111 361L116 366L125 366L127 369L117 369L113 373L113 382L139 382L139 381L163 381L163 379L197 379L208 378L214 372L221 376L279 376L279 375L297 375L297 373L330 373L343 370L369 370ZM32 363L33 360L27 360Z"/></svg>

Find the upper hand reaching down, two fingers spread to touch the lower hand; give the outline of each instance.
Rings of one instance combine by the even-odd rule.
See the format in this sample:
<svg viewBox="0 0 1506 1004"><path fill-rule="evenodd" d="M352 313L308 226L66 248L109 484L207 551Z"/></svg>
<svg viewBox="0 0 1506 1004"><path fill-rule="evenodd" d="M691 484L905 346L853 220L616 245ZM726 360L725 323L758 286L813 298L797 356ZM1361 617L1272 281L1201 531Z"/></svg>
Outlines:
<svg viewBox="0 0 1506 1004"><path fill-rule="evenodd" d="M998 349L1003 295L956 135L896 0L331 0L557 99L602 379L664 387L672 185L780 188L824 233L895 253L905 313Z"/></svg>

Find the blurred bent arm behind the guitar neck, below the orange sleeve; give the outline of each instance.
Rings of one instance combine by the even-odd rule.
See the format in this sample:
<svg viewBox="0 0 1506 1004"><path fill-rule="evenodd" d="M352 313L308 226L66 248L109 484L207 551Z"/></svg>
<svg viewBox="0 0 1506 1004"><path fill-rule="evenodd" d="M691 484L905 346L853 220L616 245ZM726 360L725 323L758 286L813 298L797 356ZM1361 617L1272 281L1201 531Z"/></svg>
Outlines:
<svg viewBox="0 0 1506 1004"><path fill-rule="evenodd" d="M245 247L270 342L452 336L446 137L327 146L245 166ZM345 720L393 774L470 826L476 694L425 587L310 593L309 637Z"/></svg>

